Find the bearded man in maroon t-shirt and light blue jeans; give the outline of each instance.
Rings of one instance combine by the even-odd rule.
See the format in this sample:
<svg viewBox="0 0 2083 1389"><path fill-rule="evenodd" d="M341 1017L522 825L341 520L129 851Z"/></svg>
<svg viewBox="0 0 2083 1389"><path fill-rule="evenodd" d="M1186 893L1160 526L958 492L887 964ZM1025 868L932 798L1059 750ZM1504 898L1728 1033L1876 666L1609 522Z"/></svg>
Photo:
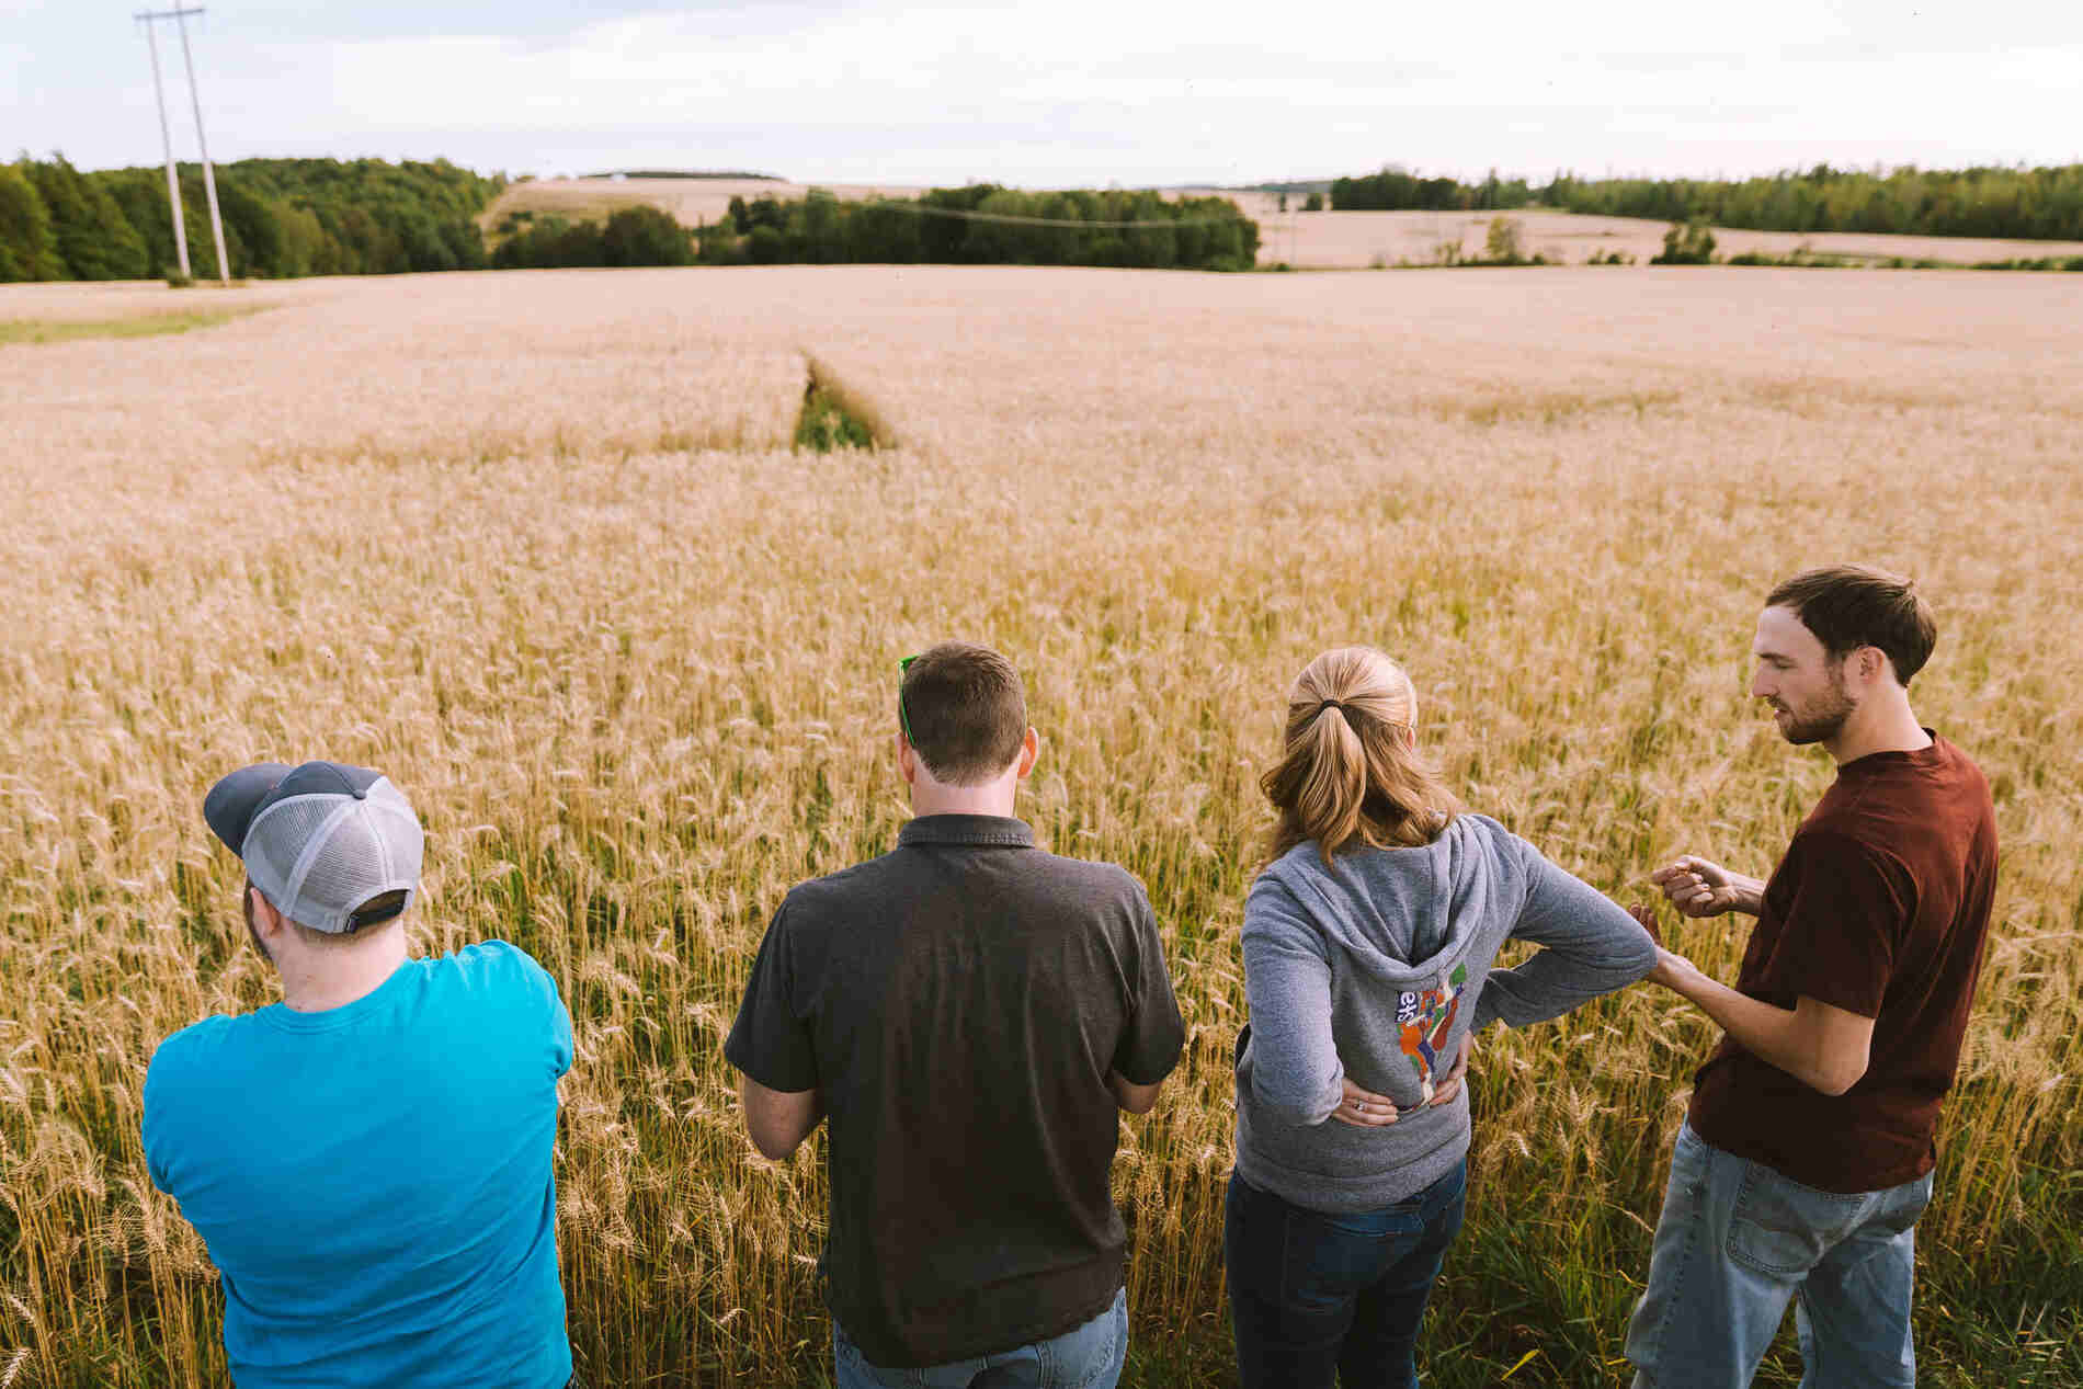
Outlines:
<svg viewBox="0 0 2083 1389"><path fill-rule="evenodd" d="M1750 691L1837 781L1768 881L1691 856L1654 875L1687 916L1758 925L1733 989L1671 952L1650 975L1727 1035L1679 1129L1627 1329L1637 1389L1748 1385L1796 1295L1802 1383L1916 1383L1916 1216L1996 889L1989 785L1910 712L1935 633L1881 571L1781 583Z"/></svg>

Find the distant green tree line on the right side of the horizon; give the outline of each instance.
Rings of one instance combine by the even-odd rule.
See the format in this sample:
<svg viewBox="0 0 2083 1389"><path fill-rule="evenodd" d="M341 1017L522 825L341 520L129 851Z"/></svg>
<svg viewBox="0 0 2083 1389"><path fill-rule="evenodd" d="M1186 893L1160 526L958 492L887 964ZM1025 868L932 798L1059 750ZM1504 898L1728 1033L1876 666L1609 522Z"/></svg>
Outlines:
<svg viewBox="0 0 2083 1389"><path fill-rule="evenodd" d="M1402 169L1335 179L1333 210L1485 210L1541 204L1560 212L1712 223L1752 231L2083 239L2083 165L2046 169L1831 169L1756 179L1425 179Z"/></svg>

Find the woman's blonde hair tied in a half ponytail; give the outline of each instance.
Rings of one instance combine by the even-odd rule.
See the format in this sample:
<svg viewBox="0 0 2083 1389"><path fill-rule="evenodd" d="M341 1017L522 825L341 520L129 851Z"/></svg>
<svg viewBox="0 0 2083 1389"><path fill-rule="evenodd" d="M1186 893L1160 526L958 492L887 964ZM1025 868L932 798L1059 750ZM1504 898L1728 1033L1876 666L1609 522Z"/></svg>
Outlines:
<svg viewBox="0 0 2083 1389"><path fill-rule="evenodd" d="M1371 646L1304 666L1287 696L1281 760L1260 779L1279 825L1271 856L1316 841L1325 864L1352 843L1431 843L1460 804L1416 750L1419 696Z"/></svg>

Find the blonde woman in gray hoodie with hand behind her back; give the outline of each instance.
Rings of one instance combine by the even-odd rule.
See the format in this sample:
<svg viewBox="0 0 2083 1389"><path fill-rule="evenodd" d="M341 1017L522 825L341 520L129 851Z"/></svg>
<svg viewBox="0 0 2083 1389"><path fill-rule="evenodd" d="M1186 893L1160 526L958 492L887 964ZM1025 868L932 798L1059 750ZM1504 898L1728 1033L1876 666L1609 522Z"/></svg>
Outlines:
<svg viewBox="0 0 2083 1389"><path fill-rule="evenodd" d="M1412 1389L1466 1187L1466 1045L1641 979L1650 935L1496 820L1419 741L1410 677L1348 646L1287 696L1279 825L1244 908L1225 1256L1246 1389ZM1544 945L1491 968L1508 939Z"/></svg>

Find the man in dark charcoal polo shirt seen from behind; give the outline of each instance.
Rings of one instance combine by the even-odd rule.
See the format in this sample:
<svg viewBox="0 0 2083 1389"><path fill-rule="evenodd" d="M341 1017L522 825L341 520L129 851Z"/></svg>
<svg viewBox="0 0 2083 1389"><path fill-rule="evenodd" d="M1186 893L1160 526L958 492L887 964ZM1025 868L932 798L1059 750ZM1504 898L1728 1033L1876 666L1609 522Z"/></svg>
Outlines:
<svg viewBox="0 0 2083 1389"><path fill-rule="evenodd" d="M1037 748L998 652L906 662L917 818L787 893L723 1050L769 1158L831 1118L839 1389L1121 1377L1116 1114L1156 1104L1183 1029L1135 879L1012 818Z"/></svg>

